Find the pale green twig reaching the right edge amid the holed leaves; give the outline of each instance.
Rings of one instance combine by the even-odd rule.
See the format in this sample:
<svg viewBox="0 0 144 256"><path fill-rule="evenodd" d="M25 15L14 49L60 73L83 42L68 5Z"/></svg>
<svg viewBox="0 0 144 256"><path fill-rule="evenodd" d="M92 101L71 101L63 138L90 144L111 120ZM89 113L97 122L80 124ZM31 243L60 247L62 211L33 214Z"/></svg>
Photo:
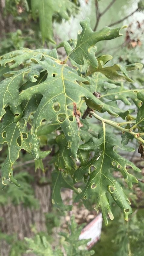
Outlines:
<svg viewBox="0 0 144 256"><path fill-rule="evenodd" d="M90 111L90 115L93 115L93 117L97 118L98 120L103 121L106 124L111 125L111 126L117 128L117 129L121 130L121 131L132 134L134 136L134 138L136 138L136 140L138 140L138 141L140 141L144 144L144 140L140 137L143 133L136 133L136 132L131 131L131 129L123 128L119 125L119 123L116 123L114 121L110 121L108 119L104 119L104 118L100 117L99 115L97 115L96 113L94 113L93 111Z"/></svg>

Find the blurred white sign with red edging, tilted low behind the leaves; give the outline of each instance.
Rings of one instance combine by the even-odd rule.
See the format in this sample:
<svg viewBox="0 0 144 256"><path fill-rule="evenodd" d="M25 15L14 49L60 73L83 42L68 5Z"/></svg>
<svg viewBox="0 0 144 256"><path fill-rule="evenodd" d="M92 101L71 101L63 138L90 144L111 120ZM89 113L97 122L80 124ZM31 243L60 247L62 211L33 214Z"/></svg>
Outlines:
<svg viewBox="0 0 144 256"><path fill-rule="evenodd" d="M82 229L79 240L91 238L87 243L87 249L90 249L98 240L100 240L102 221L102 214L100 213Z"/></svg>

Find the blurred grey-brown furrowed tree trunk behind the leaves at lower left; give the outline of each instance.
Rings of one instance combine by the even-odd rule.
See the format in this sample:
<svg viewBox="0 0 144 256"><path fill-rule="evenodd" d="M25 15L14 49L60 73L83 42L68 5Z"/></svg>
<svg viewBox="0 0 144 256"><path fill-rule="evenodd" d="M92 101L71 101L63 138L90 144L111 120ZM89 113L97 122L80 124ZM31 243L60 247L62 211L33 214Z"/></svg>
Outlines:
<svg viewBox="0 0 144 256"><path fill-rule="evenodd" d="M34 235L32 227L36 231L46 231L45 225L45 214L51 210L51 186L50 185L39 185L38 178L46 176L50 178L51 171L48 170L46 173L37 171L35 173L32 170L35 178L33 184L35 197L38 199L40 207L37 210L25 208L22 204L14 206L13 204L7 204L0 206L0 229L6 234L17 234L19 240L23 240L25 237L31 237ZM31 174L32 174L31 172ZM0 241L0 255L8 256L10 247L5 241ZM27 255L27 254L25 254ZM30 255L30 254L28 254Z"/></svg>

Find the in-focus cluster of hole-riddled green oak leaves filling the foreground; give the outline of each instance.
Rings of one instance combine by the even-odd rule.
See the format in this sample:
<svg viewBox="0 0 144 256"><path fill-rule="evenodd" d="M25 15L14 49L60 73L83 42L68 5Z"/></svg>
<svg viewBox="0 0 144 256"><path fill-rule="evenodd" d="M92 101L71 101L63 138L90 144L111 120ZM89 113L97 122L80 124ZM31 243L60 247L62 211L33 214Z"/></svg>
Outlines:
<svg viewBox="0 0 144 256"><path fill-rule="evenodd" d="M0 101L0 143L6 142L8 145L8 155L2 167L2 187L5 185L5 179L18 186L13 177L12 166L21 149L27 151L34 159L40 160L50 154L53 147L54 205L63 210L70 210L70 205L63 204L61 188L70 188L77 193L74 183L84 178L87 185L83 191L78 190L81 193L77 199L87 200L92 194L96 195L96 209L101 208L107 224L107 213L113 219L107 192L123 210L126 220L132 212L129 200L118 181L113 179L112 172L120 171L132 188L132 182L137 180L128 173L126 166L131 166L135 171L139 169L116 153L114 147L119 146L119 142L113 138L113 134L108 133L107 125L123 132L124 145L131 139L130 136L124 138L125 134L131 135L141 144L144 143L143 89L135 87L128 74L129 71L142 68L142 65L135 63L123 67L115 64L105 67L112 57L96 56L95 44L120 36L121 28L106 27L99 32L93 32L89 19L80 24L83 30L78 34L77 43L69 41L60 44L67 52L64 61L59 60L56 49L23 48L1 57L2 68L8 66L14 69L7 72L6 78L0 83L3 98ZM74 67L67 65L68 59ZM121 81L130 84L125 85ZM130 115L134 110L122 109L117 100L123 101L125 105L132 105L132 101L135 103L139 108L136 121L135 116ZM86 107L87 115L90 114L90 117L93 116L103 123L103 132L99 135L81 118ZM94 110L100 114L96 114ZM104 118L104 112L108 112L109 119ZM118 122L112 120L113 116L119 117ZM124 120L121 123L120 118ZM46 141L48 135L52 135L52 139L48 140L49 150L41 151L41 141ZM131 151L129 147L120 148ZM89 160L91 151L95 154ZM37 167L40 166L41 162L38 162ZM91 166L94 166L94 171L91 170L90 173ZM89 180L86 175L90 177ZM50 250L45 240L42 246Z"/></svg>

